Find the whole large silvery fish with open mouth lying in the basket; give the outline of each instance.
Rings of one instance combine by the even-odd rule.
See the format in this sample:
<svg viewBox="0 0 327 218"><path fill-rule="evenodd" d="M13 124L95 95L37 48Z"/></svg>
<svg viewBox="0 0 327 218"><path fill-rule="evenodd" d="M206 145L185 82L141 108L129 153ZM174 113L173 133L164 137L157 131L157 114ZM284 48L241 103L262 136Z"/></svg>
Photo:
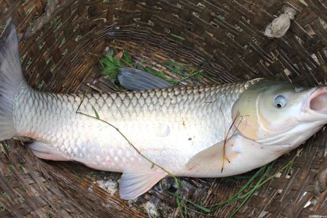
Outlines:
<svg viewBox="0 0 327 218"><path fill-rule="evenodd" d="M49 93L25 81L16 27L0 38L0 140L29 137L41 159L121 172L135 199L166 176L225 177L263 166L327 123L327 87L255 78L173 86L132 68L134 91ZM141 84L141 85L138 85ZM141 155L142 154L142 155Z"/></svg>

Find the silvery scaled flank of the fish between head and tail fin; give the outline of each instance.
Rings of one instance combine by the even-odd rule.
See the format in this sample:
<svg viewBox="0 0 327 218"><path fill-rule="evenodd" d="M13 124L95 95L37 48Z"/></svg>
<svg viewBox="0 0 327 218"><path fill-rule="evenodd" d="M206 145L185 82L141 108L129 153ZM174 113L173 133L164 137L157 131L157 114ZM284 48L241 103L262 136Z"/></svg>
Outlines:
<svg viewBox="0 0 327 218"><path fill-rule="evenodd" d="M233 102L255 81L87 94L78 112L95 116L94 107L100 119L117 127L146 157L183 175L192 156L224 138L222 126L231 125ZM13 112L18 136L34 138L46 144L48 152L100 170L148 168L151 163L112 126L76 113L82 98L35 91L22 83Z"/></svg>

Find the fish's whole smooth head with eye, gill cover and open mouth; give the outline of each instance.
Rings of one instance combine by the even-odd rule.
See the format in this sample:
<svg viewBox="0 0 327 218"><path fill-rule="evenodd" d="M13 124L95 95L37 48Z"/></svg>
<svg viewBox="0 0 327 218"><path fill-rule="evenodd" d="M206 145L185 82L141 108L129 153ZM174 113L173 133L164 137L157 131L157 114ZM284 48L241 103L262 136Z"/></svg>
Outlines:
<svg viewBox="0 0 327 218"><path fill-rule="evenodd" d="M292 149L327 123L327 87L260 80L234 103L232 118L244 137Z"/></svg>

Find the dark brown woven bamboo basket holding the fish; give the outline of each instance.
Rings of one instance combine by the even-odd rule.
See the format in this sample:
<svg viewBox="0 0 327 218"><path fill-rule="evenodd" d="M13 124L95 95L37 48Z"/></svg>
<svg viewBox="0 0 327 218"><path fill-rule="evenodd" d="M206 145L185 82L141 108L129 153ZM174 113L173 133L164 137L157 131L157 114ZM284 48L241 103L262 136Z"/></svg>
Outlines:
<svg viewBox="0 0 327 218"><path fill-rule="evenodd" d="M268 38L266 26L285 7L296 10L295 19L283 37ZM0 26L9 17L17 26L25 78L42 91L84 93L88 86L89 92L113 91L103 76L92 82L101 73L98 57L107 47L127 49L135 62L150 60L143 64L164 73L169 70L159 64L163 60L195 65L207 59L199 69L219 83L267 77L326 85L326 0L0 0ZM186 79L180 85L191 84L198 82ZM303 150L291 167L244 204L235 201L209 215L228 217L239 206L234 217L327 215L326 191L315 205L304 207L314 199L317 175L327 168L323 130L299 147ZM297 151L280 157L269 176ZM176 197L169 194L177 189L173 179L165 179L137 201L126 201L101 186L103 181L117 184L119 177L78 163L38 159L21 141L2 142L0 217L181 217ZM180 196L201 206L227 200L247 182L181 180L186 187L180 187ZM182 212L184 217L211 217Z"/></svg>

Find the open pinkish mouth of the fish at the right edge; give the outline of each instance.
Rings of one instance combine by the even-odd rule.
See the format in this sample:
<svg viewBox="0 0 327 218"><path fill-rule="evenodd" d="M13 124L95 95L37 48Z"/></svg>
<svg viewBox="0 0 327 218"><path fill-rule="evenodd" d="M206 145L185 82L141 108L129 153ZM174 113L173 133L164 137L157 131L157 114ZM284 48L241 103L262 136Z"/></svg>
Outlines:
<svg viewBox="0 0 327 218"><path fill-rule="evenodd" d="M318 88L308 99L308 107L318 113L327 114L327 89Z"/></svg>

